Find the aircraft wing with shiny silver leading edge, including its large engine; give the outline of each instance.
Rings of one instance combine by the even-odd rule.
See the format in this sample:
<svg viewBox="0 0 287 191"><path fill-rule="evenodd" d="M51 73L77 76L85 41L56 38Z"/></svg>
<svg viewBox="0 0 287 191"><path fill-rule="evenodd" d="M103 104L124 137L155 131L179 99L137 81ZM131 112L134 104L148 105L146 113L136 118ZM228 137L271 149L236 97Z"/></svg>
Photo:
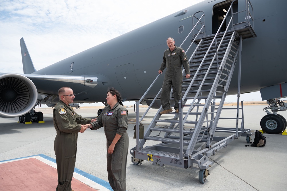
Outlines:
<svg viewBox="0 0 287 191"><path fill-rule="evenodd" d="M32 110L37 101L44 102L49 98L51 99L50 101L53 101L57 98L59 87L77 86L82 87L84 91L84 88L87 86L93 88L97 84L98 78L88 75L65 76L0 73L0 117L18 117ZM38 93L47 96L39 100Z"/></svg>

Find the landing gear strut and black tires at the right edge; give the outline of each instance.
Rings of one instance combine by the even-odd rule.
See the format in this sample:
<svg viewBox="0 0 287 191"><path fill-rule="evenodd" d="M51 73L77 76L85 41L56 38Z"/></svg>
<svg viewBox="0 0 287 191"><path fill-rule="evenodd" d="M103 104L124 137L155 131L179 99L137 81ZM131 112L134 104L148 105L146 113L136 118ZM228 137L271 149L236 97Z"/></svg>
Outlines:
<svg viewBox="0 0 287 191"><path fill-rule="evenodd" d="M270 134L278 134L281 133L286 129L287 121L282 116L277 114L278 111L286 111L287 103L280 101L278 98L267 100L268 107L264 108L263 110L267 113L261 121L260 126L262 130L266 133ZM267 109L271 109L269 112Z"/></svg>

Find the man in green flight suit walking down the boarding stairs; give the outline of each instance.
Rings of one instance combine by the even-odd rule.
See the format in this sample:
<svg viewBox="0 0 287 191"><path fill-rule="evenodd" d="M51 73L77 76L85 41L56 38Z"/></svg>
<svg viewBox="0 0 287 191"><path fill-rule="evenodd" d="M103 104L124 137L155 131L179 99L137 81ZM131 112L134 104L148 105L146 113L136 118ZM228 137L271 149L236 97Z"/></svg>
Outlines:
<svg viewBox="0 0 287 191"><path fill-rule="evenodd" d="M172 87L174 98L175 112L179 112L179 100L181 99L181 84L182 84L182 65L185 69L185 77L190 77L189 64L187 57L182 48L174 45L174 39L169 37L166 40L168 49L164 51L163 61L158 70L159 74L166 68L164 75L164 81L162 83L162 92L160 95L160 102L164 109L160 114L166 114L172 112L170 107L169 94Z"/></svg>

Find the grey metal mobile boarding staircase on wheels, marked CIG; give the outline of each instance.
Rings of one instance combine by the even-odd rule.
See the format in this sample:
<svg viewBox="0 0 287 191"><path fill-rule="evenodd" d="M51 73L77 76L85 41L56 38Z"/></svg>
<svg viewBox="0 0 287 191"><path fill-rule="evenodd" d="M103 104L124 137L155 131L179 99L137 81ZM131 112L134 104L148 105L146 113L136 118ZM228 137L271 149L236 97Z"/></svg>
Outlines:
<svg viewBox="0 0 287 191"><path fill-rule="evenodd" d="M242 118L238 117L238 110L240 109L239 96L236 108L237 117L234 118L237 120L236 128L218 128L217 124L235 64L238 63L237 60L239 60L240 72L242 40L255 37L249 22L251 18L250 21L253 23L253 11L250 11L249 7L252 8L252 5L249 0L246 0L246 10L244 12L247 19L242 23L234 24L233 16L243 11L233 13L231 5L226 15L231 13L232 16L228 21L228 25L226 23L225 32L219 32L225 21L224 18L218 32L210 36L205 36L203 11L193 15L193 29L189 35L193 36L191 44L197 44L197 48L189 59L191 77L183 79L183 96L179 101L179 113L171 112L160 115L159 113L163 110L161 107L145 130L144 137L139 138L141 121L159 97L161 89L141 119L139 119L139 103L154 85L160 76L159 74L141 100L135 104L137 145L130 150L131 161L134 165L148 160L152 161L154 165L163 167L164 165L171 165L199 169L199 182L204 183L209 175L208 169L212 165L209 156L215 155L217 151L227 147L228 143L240 136L247 137L248 143L251 135L250 129L244 129L243 114ZM200 18L197 17L198 14L202 14ZM194 24L195 19L198 20L196 24ZM187 38L189 38L189 35ZM184 71L183 77L185 77ZM240 83L238 84L239 87ZM240 89L238 89L238 92L240 92ZM170 100L173 100L172 91ZM186 104L187 100L191 104ZM205 104L200 104L201 100L205 100ZM219 100L219 104L216 104L215 100ZM183 111L183 108L185 108L185 111ZM166 116L170 117L166 118ZM238 128L239 119L241 119L240 128ZM216 137L215 132L220 132L220 135L224 133L227 136ZM148 143L156 144L147 146Z"/></svg>

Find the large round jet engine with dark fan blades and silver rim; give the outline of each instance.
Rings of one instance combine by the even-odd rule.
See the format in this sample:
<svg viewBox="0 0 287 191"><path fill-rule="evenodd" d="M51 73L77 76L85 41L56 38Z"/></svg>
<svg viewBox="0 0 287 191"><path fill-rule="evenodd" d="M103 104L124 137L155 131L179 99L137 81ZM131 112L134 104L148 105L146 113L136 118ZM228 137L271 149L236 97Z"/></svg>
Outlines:
<svg viewBox="0 0 287 191"><path fill-rule="evenodd" d="M36 86L27 77L15 73L0 74L0 117L25 115L34 108L37 97Z"/></svg>

